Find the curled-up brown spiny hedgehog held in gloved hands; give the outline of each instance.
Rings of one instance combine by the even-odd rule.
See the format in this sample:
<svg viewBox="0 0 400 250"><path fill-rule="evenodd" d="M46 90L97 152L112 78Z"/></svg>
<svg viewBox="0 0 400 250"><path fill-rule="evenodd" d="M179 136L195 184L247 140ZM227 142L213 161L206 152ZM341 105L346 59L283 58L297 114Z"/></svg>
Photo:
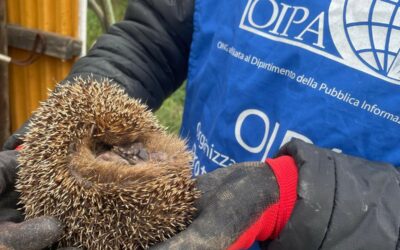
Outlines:
<svg viewBox="0 0 400 250"><path fill-rule="evenodd" d="M17 190L26 218L65 225L59 246L147 249L191 223L185 141L111 80L63 84L32 117Z"/></svg>

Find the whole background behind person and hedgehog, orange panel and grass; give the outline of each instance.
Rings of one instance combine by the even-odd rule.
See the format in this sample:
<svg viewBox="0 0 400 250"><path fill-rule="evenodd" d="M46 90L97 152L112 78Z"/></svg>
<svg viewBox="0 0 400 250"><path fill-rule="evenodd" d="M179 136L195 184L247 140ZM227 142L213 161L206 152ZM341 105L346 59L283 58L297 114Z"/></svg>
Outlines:
<svg viewBox="0 0 400 250"><path fill-rule="evenodd" d="M0 0L0 145L68 74L128 0ZM184 86L156 112L178 133Z"/></svg>

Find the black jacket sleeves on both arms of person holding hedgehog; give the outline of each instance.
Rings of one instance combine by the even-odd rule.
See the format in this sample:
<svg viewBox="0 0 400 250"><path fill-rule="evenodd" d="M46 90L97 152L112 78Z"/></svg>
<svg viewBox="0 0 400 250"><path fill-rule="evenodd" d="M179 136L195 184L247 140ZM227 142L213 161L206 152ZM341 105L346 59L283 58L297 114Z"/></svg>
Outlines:
<svg viewBox="0 0 400 250"><path fill-rule="evenodd" d="M75 63L74 77L108 77L157 109L187 74L194 0L131 0L125 19ZM23 134L26 126L17 134ZM21 143L13 135L6 148ZM400 146L399 146L400 150ZM400 249L400 174L393 166L293 141L298 201L268 249Z"/></svg>

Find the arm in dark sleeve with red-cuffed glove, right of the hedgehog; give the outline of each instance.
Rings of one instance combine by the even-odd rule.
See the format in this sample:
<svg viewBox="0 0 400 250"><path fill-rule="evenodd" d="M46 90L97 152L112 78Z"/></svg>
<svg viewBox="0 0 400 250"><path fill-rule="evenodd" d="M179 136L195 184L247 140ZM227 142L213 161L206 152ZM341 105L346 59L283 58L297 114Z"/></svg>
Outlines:
<svg viewBox="0 0 400 250"><path fill-rule="evenodd" d="M215 170L197 188L193 223L153 249L400 247L400 175L389 164L293 140L276 159Z"/></svg>

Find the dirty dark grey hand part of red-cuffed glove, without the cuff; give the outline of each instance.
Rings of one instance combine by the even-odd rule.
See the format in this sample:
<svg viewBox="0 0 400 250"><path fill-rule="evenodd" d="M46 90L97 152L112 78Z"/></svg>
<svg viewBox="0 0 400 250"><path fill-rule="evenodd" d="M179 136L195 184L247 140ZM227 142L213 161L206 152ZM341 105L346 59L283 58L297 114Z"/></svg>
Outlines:
<svg viewBox="0 0 400 250"><path fill-rule="evenodd" d="M241 163L197 177L202 192L193 223L151 249L226 249L279 199L265 163Z"/></svg>

